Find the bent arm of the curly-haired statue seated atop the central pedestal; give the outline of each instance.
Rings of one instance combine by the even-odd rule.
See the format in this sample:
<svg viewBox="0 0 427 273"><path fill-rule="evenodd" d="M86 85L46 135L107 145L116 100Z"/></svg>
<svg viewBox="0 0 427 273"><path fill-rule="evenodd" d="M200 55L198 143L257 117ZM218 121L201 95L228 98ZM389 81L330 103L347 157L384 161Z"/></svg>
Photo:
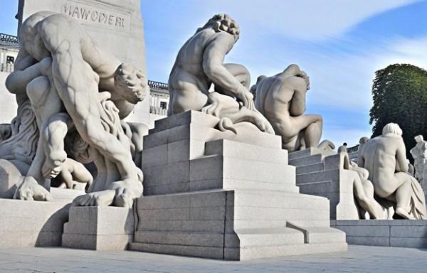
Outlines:
<svg viewBox="0 0 427 273"><path fill-rule="evenodd" d="M215 85L233 93L236 97L241 97L243 92L249 91L223 66L226 54L233 48L233 36L226 32L217 33L216 35L217 37L204 50L204 73Z"/></svg>

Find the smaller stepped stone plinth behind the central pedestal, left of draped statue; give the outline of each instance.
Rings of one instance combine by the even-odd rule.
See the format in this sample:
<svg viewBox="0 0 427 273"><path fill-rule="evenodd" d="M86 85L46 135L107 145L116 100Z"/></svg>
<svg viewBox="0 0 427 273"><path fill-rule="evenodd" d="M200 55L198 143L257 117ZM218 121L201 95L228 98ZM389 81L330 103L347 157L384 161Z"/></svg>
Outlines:
<svg viewBox="0 0 427 273"><path fill-rule="evenodd" d="M296 167L297 186L301 193L330 200L330 216L335 220L357 220L352 171L340 168L339 154L310 148L289 155L289 164Z"/></svg>

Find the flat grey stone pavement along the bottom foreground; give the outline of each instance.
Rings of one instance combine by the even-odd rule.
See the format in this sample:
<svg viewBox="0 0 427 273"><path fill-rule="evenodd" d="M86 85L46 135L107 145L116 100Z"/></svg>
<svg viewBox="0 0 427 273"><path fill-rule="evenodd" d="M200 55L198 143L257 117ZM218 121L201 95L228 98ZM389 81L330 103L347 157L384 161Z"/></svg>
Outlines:
<svg viewBox="0 0 427 273"><path fill-rule="evenodd" d="M0 250L0 272L426 272L427 249L350 245L348 252L224 262L143 252Z"/></svg>

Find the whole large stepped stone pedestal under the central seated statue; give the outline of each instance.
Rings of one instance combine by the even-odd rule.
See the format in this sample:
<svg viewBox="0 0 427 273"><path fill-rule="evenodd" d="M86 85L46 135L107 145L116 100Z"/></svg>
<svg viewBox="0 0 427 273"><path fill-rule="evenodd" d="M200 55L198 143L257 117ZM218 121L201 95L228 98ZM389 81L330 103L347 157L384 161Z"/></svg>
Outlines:
<svg viewBox="0 0 427 273"><path fill-rule="evenodd" d="M299 193L280 137L217 123L185 112L144 137L131 250L233 260L347 250L329 201Z"/></svg>

